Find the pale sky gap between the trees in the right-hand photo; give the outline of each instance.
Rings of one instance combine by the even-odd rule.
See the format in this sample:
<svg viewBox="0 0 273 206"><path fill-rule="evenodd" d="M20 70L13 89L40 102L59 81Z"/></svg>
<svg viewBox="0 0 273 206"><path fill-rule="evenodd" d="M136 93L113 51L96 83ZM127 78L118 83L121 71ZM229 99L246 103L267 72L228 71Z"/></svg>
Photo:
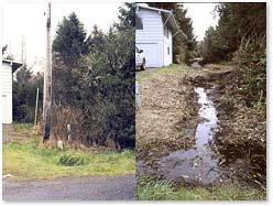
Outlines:
<svg viewBox="0 0 273 206"><path fill-rule="evenodd" d="M197 41L201 41L206 30L216 26L219 18L214 18L214 9L217 3L183 3L188 10L187 17L193 20L194 33Z"/></svg>

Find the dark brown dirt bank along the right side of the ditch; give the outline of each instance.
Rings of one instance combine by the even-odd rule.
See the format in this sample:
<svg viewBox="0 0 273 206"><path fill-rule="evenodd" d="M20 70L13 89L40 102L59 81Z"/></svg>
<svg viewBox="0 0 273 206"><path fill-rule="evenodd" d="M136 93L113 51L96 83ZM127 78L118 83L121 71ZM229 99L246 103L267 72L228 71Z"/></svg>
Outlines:
<svg viewBox="0 0 273 206"><path fill-rule="evenodd" d="M189 78L190 84L215 87L220 130L215 151L227 178L242 185L265 189L266 184L266 117L262 108L249 107L238 88L236 69Z"/></svg>

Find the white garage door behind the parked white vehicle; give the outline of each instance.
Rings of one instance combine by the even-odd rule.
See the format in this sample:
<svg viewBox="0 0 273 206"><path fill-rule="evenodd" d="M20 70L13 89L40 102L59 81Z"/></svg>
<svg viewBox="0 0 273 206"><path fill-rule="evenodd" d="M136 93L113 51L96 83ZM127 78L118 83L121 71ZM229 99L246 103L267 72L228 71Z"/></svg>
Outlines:
<svg viewBox="0 0 273 206"><path fill-rule="evenodd" d="M143 50L146 59L146 67L161 67L160 52L156 43L136 44L139 50Z"/></svg>

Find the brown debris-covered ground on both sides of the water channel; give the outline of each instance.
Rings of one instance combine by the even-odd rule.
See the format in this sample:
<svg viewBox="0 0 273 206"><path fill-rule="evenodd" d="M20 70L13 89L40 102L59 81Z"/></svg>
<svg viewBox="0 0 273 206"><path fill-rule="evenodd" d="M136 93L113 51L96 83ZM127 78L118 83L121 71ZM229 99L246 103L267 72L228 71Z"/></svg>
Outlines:
<svg viewBox="0 0 273 206"><path fill-rule="evenodd" d="M214 84L217 85L215 98L221 128L215 150L221 158L220 164L229 169L232 181L264 188L266 118L242 100L233 66L206 65L198 69L176 66L174 73L172 69L153 71L153 75L140 80L141 107L135 119L138 174L149 173L148 169L156 173L161 156L193 147L198 122L193 88ZM145 76L141 73L139 75Z"/></svg>

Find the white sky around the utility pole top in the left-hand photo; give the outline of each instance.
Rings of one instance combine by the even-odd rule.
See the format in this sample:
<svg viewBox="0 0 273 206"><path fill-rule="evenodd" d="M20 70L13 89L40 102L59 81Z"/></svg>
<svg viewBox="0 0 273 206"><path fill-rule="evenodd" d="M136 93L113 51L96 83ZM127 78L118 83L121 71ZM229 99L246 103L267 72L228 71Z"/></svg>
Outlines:
<svg viewBox="0 0 273 206"><path fill-rule="evenodd" d="M52 39L54 39L56 28L63 17L67 17L73 11L84 23L87 35L92 26L98 25L107 32L110 25L118 19L118 8L121 2L53 2L52 3ZM8 53L14 55L15 61L22 59L22 43L25 42L26 63L33 67L34 72L43 69L45 45L46 45L46 2L9 2L3 6L2 14L2 44L8 44Z"/></svg>

